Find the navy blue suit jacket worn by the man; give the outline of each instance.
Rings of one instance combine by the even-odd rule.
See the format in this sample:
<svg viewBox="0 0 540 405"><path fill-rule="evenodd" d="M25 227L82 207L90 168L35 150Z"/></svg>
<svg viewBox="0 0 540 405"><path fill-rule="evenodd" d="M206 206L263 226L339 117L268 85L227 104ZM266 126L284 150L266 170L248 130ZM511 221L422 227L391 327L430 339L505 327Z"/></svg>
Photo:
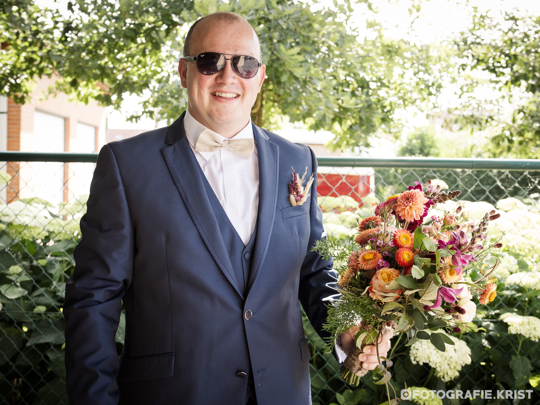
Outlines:
<svg viewBox="0 0 540 405"><path fill-rule="evenodd" d="M242 405L253 370L259 405L311 403L299 300L319 334L332 264L312 252L316 198L292 207L313 152L253 125L259 157L257 241L246 299L211 210L183 116L105 145L66 286L68 396L77 405ZM122 300L125 346L114 336ZM245 311L253 312L251 319Z"/></svg>

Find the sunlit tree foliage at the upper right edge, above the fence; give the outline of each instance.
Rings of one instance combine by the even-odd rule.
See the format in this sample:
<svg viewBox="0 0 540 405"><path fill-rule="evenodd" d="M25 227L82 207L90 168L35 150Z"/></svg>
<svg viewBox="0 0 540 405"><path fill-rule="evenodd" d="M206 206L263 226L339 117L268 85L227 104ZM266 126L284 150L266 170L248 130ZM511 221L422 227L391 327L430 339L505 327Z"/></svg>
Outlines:
<svg viewBox="0 0 540 405"><path fill-rule="evenodd" d="M477 103L461 122L473 129L491 126L491 156L539 157L540 17L507 12L501 18L476 11L471 29L456 45L464 57L461 71L488 72L487 82L502 94L501 103ZM502 113L504 102L514 106L510 117Z"/></svg>

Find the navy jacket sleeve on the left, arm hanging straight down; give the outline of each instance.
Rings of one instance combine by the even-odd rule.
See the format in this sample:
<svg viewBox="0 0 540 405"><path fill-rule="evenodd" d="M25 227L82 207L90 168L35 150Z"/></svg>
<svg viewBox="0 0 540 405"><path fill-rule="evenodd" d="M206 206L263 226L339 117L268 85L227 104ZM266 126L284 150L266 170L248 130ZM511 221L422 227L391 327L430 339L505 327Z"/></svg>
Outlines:
<svg viewBox="0 0 540 405"><path fill-rule="evenodd" d="M116 405L119 357L114 337L132 277L133 227L109 145L99 153L80 231L64 301L66 389L70 404Z"/></svg>

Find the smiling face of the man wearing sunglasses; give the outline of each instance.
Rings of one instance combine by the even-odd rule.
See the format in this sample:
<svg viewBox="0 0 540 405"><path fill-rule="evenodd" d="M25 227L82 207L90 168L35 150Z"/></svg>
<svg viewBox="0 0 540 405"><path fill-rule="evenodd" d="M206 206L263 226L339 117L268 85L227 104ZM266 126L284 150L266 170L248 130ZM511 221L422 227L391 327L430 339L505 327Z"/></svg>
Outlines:
<svg viewBox="0 0 540 405"><path fill-rule="evenodd" d="M212 18L195 27L189 52L190 55L186 56L219 52L230 54L226 55L227 58L247 55L260 60L259 43L249 26ZM214 75L200 73L195 61L187 62L182 58L178 66L182 86L187 88L188 108L193 118L225 137L234 136L248 123L265 70L265 65L262 65L257 75L244 79L234 72L231 60L227 60L225 67Z"/></svg>

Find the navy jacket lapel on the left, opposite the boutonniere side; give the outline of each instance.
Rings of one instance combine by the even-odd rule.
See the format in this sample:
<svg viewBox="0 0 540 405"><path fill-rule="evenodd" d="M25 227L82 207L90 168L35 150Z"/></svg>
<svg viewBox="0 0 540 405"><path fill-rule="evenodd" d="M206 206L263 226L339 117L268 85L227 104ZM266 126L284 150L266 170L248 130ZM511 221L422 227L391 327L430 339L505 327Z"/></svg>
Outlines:
<svg viewBox="0 0 540 405"><path fill-rule="evenodd" d="M242 296L231 259L219 231L203 184L203 174L184 131L184 114L168 129L165 142L170 146L161 150L178 191L208 250L221 271ZM243 298L243 296L242 296Z"/></svg>

